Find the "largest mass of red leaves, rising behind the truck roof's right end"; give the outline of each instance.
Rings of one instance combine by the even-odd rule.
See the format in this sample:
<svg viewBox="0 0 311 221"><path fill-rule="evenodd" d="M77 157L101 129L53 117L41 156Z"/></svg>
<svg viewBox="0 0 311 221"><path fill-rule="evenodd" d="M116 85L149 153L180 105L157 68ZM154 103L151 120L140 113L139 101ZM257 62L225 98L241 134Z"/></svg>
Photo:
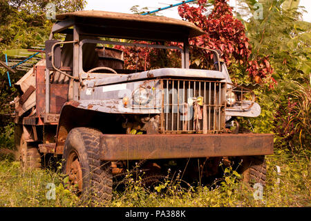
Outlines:
<svg viewBox="0 0 311 221"><path fill-rule="evenodd" d="M207 33L197 37L199 40L191 39L190 44L220 49L228 65L232 57L243 64L251 53L243 24L233 17L232 8L227 4L227 0L215 0L214 9L208 18L203 15L205 3L206 0L201 0L198 1L198 7L184 4L178 8L182 18L193 22Z"/></svg>

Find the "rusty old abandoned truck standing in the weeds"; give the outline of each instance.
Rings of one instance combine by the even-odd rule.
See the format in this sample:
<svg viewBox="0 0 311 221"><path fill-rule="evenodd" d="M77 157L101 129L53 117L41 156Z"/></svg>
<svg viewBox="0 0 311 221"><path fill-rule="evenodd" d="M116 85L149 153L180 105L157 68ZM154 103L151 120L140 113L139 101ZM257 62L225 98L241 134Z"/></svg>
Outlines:
<svg viewBox="0 0 311 221"><path fill-rule="evenodd" d="M135 166L150 182L168 168L185 177L212 176L220 162L238 159L243 181L265 184L273 135L238 130L236 117L256 117L261 107L251 90L232 84L219 51L200 48L211 51L213 64L192 67L189 38L204 34L200 28L96 10L56 19L46 58L15 85L23 168L59 157L68 185L98 202L110 200L115 177ZM180 63L126 69L124 51L115 46L175 51Z"/></svg>

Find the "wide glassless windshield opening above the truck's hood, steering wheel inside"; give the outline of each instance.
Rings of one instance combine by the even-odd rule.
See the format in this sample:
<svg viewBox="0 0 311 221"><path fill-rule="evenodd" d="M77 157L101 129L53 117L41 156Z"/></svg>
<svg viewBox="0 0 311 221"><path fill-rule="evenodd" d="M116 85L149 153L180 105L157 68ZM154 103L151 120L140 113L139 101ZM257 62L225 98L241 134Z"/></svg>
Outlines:
<svg viewBox="0 0 311 221"><path fill-rule="evenodd" d="M83 39L80 42L79 54L81 68L86 73L97 67L117 69L118 73L133 73L164 67L185 67L182 62L184 57L182 48L149 42ZM106 70L96 69L96 72L104 71Z"/></svg>

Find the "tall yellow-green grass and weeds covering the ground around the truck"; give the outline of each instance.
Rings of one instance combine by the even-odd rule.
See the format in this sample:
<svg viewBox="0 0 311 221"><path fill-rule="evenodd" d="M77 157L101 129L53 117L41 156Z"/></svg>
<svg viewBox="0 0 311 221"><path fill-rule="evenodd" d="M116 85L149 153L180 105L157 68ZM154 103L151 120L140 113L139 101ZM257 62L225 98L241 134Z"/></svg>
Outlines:
<svg viewBox="0 0 311 221"><path fill-rule="evenodd" d="M180 175L146 188L144 175L128 173L122 191L115 188L113 200L99 206L311 206L310 152L292 155L276 150L267 156L267 184L263 199L254 198L254 189L240 182L240 175L226 168L213 184L185 186ZM220 165L222 166L222 165ZM278 174L276 166L281 168ZM85 206L64 189L59 171L22 172L15 161L0 161L0 206ZM48 183L55 184L55 200L46 197Z"/></svg>

